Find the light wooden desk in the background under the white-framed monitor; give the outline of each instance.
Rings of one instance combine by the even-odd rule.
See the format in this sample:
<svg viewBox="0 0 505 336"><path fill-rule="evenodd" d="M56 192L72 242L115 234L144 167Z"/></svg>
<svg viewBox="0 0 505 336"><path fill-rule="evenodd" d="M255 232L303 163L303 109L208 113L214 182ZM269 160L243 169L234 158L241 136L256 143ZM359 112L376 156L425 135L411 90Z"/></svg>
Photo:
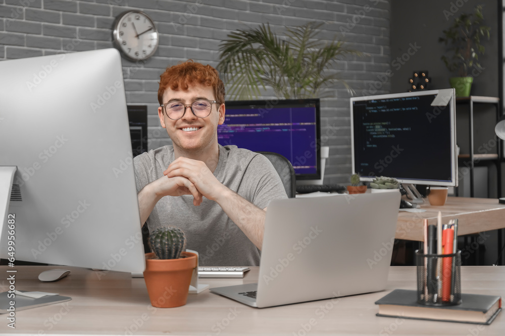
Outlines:
<svg viewBox="0 0 505 336"><path fill-rule="evenodd" d="M395 238L423 241L423 220L428 224L437 223L438 212L442 212L442 221L458 218L458 235L468 235L489 230L505 228L505 204L499 204L495 198L447 197L442 207L421 205L426 209L422 213L398 213Z"/></svg>

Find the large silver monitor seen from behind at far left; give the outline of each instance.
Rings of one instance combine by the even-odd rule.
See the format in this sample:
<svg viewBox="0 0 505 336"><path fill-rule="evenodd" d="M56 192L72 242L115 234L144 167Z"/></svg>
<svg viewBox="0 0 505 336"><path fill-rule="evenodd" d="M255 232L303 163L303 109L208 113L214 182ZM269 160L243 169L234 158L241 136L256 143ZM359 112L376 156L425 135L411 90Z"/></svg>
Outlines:
<svg viewBox="0 0 505 336"><path fill-rule="evenodd" d="M0 256L143 272L119 52L5 60L0 74Z"/></svg>

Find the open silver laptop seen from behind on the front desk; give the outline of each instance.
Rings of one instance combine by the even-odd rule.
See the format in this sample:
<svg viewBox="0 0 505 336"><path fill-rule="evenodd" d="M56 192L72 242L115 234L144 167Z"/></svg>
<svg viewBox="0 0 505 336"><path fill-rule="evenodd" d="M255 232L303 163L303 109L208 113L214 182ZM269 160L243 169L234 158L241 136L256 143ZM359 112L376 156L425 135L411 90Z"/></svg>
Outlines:
<svg viewBox="0 0 505 336"><path fill-rule="evenodd" d="M399 192L273 200L258 283L211 288L264 308L386 287Z"/></svg>

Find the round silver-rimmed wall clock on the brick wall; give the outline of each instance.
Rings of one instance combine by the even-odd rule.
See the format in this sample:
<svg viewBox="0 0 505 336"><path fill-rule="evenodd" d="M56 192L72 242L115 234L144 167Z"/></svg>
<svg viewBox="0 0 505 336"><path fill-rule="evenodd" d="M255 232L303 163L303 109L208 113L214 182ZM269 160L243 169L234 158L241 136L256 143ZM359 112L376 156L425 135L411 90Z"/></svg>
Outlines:
<svg viewBox="0 0 505 336"><path fill-rule="evenodd" d="M147 14L130 11L121 14L114 23L114 45L131 60L144 60L158 48L159 36Z"/></svg>

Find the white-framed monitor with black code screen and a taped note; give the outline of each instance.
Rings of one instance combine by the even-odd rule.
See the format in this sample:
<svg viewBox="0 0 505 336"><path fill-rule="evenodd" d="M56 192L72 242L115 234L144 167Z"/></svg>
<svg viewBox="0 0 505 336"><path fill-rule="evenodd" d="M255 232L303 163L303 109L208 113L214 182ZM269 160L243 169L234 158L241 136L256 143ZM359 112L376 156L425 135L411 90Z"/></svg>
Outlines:
<svg viewBox="0 0 505 336"><path fill-rule="evenodd" d="M350 99L352 172L412 185L458 186L454 89ZM415 195L419 196L419 195Z"/></svg>

